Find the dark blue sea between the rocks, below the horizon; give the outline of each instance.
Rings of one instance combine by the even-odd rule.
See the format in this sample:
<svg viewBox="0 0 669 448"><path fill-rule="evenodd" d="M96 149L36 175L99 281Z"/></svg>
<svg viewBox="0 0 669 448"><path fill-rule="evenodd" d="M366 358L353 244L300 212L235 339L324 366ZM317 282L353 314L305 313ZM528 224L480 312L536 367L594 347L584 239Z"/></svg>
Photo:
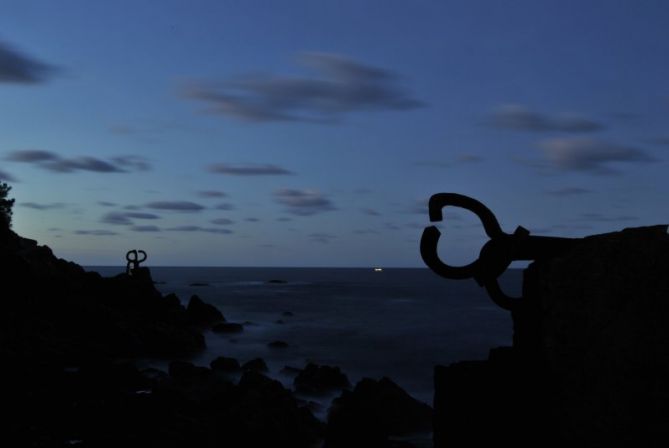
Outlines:
<svg viewBox="0 0 669 448"><path fill-rule="evenodd" d="M90 269L102 275L123 271ZM509 313L482 288L428 269L154 267L151 273L161 292L176 293L184 303L197 294L228 321L247 322L240 334L206 333L207 350L191 361L261 357L286 385L292 378L281 373L284 366L313 361L339 366L353 384L388 376L431 404L435 364L484 359L490 348L511 344ZM520 270L501 279L510 294L520 291L521 281ZM269 348L275 340L289 346Z"/></svg>

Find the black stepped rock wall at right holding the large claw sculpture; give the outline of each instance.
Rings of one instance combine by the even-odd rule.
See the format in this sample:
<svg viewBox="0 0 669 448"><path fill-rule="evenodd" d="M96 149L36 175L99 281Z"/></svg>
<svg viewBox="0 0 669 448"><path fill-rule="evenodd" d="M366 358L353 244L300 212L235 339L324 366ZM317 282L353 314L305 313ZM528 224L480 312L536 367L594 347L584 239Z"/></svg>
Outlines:
<svg viewBox="0 0 669 448"><path fill-rule="evenodd" d="M666 446L666 230L596 235L532 263L513 348L437 367L435 446Z"/></svg>

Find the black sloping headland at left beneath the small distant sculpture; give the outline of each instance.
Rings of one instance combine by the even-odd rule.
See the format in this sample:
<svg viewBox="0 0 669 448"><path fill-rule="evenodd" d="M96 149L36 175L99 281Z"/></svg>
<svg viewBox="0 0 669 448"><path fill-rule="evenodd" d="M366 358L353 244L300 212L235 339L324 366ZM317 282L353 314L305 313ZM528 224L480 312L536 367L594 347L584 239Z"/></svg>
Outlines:
<svg viewBox="0 0 669 448"><path fill-rule="evenodd" d="M0 238L0 270L5 357L71 363L204 348L189 313L155 289L148 269L104 278L7 231Z"/></svg>

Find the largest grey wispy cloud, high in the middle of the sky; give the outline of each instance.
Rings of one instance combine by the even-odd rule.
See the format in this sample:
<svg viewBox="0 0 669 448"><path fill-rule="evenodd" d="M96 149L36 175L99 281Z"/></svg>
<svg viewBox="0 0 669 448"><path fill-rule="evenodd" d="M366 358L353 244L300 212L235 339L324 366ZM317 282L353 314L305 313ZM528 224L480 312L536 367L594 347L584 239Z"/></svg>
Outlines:
<svg viewBox="0 0 669 448"><path fill-rule="evenodd" d="M344 114L409 110L423 104L395 86L397 77L344 56L303 53L311 77L244 76L219 83L192 83L187 98L209 111L249 122L333 122Z"/></svg>

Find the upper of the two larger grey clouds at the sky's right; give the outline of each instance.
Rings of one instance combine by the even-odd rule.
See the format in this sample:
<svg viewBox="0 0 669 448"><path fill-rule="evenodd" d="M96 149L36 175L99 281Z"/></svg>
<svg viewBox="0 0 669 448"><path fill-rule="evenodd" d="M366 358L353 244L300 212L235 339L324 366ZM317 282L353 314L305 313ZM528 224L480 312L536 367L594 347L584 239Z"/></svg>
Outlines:
<svg viewBox="0 0 669 448"><path fill-rule="evenodd" d="M505 104L495 109L489 123L497 128L533 132L592 132L604 126L576 115L548 116L520 104Z"/></svg>

